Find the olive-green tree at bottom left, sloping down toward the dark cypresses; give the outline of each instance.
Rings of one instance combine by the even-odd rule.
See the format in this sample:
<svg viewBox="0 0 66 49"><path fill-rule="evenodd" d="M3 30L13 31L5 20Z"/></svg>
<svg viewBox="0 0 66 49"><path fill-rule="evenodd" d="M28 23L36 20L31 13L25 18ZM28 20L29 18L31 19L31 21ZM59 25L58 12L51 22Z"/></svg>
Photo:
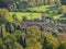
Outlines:
<svg viewBox="0 0 66 49"><path fill-rule="evenodd" d="M20 44L13 41L13 39L11 39L10 37L4 40L4 45L7 46L7 49L23 49Z"/></svg>

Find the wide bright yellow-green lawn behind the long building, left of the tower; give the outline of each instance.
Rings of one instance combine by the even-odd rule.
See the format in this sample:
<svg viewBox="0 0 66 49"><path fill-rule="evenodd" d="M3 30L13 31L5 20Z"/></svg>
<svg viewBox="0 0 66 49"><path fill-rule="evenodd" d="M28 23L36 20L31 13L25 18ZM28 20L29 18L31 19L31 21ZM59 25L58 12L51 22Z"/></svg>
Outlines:
<svg viewBox="0 0 66 49"><path fill-rule="evenodd" d="M33 19L40 19L41 20L41 13L22 13L22 12L9 12L8 20L11 22L12 21L12 15L16 14L16 17L22 21L22 16L26 16L28 20L33 20Z"/></svg>

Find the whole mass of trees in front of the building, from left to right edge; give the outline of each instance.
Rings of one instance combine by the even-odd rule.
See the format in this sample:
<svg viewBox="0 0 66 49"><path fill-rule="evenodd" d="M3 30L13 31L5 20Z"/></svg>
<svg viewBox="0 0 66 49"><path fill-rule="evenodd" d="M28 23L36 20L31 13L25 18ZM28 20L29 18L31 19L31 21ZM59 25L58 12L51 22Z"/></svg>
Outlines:
<svg viewBox="0 0 66 49"><path fill-rule="evenodd" d="M7 12L3 10L0 13L0 49L66 49L66 25L57 27L56 23L47 23L45 29L52 29L51 33L40 30L37 26L28 29L16 23L15 14L12 16L13 23L9 22Z"/></svg>

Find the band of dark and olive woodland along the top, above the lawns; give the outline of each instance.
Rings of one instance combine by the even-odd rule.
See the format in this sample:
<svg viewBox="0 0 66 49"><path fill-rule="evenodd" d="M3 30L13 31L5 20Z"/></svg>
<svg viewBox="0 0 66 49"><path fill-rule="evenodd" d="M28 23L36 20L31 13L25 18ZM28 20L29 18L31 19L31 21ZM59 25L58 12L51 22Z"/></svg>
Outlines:
<svg viewBox="0 0 66 49"><path fill-rule="evenodd" d="M9 11L24 11L28 8L40 5L61 4L59 0L0 0L0 8L6 8ZM24 10L23 10L24 9ZM30 11L28 9L28 11Z"/></svg>

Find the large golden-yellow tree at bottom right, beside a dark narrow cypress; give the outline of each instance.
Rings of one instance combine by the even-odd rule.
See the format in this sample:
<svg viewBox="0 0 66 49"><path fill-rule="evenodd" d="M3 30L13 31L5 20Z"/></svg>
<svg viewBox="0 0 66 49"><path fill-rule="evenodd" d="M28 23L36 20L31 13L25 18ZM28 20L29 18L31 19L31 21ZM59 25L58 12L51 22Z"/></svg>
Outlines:
<svg viewBox="0 0 66 49"><path fill-rule="evenodd" d="M43 49L57 49L59 44L58 40L56 39L56 37L52 36L51 33L45 33L44 34L44 45L43 45Z"/></svg>

